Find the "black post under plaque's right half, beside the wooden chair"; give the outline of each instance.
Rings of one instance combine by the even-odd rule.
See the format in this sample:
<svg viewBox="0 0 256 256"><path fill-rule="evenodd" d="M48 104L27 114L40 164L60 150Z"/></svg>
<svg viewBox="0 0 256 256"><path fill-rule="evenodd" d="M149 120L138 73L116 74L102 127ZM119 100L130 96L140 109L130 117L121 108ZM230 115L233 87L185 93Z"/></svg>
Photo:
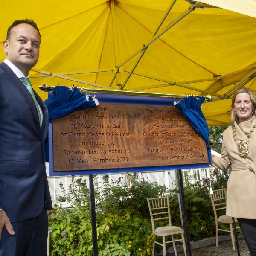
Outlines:
<svg viewBox="0 0 256 256"><path fill-rule="evenodd" d="M181 208L181 218L183 223L183 230L184 230L184 239L186 245L186 254L187 256L192 256L191 248L190 248L190 241L189 241L189 227L188 227L188 218L186 215L186 204L185 204L185 196L184 196L184 188L183 188L183 180L182 180L182 173L181 169L177 169L175 171L177 173L177 193L178 197L180 197L180 208Z"/></svg>

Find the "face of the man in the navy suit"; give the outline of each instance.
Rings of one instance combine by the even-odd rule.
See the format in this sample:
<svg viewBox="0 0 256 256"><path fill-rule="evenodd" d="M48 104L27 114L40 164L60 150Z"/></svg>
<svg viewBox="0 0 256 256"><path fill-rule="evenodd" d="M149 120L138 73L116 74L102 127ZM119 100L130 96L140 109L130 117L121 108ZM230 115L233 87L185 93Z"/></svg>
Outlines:
<svg viewBox="0 0 256 256"><path fill-rule="evenodd" d="M27 76L38 61L40 42L33 26L19 24L11 29L9 39L3 41L3 49L6 58Z"/></svg>

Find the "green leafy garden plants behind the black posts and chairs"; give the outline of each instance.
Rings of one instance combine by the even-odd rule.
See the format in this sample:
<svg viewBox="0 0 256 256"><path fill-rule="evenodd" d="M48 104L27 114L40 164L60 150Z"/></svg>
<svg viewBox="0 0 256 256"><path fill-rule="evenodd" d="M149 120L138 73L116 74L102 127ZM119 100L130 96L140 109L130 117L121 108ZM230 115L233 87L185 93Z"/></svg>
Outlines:
<svg viewBox="0 0 256 256"><path fill-rule="evenodd" d="M166 191L156 183L139 181L136 175L132 178L131 187L121 179L117 183L109 181L107 175L103 186L94 184L99 255L151 255L154 236L147 197L169 195L172 224L181 225L175 190ZM218 176L212 180L212 187L221 188L225 182ZM209 185L186 182L184 193L191 240L215 236ZM90 196L86 182L81 178L73 180L69 191L59 199L68 201L71 207L64 209L55 205L49 212L51 256L92 256Z"/></svg>

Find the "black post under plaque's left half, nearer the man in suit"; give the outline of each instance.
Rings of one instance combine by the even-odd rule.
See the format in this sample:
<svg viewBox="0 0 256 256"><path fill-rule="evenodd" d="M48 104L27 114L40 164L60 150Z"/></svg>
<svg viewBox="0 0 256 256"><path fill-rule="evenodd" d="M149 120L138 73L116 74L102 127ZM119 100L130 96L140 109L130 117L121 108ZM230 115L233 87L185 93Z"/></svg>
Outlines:
<svg viewBox="0 0 256 256"><path fill-rule="evenodd" d="M92 236L93 236L93 256L98 256L93 174L89 174L89 189L90 189L91 224L92 224Z"/></svg>

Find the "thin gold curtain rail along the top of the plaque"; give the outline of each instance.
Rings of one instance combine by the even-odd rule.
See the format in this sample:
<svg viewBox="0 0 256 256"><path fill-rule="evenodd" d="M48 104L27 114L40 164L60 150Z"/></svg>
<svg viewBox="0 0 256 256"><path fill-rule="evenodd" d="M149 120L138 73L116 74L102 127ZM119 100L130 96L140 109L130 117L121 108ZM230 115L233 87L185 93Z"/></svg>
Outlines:
<svg viewBox="0 0 256 256"><path fill-rule="evenodd" d="M188 96L198 96L195 94L163 94L163 93L145 93L145 92L134 92L134 91L126 91L126 90L103 90L103 89L94 89L94 88L84 88L80 86L67 86L70 88L77 88L81 93L112 93L112 94L122 94L122 95L133 95L133 96L150 96L150 97L165 97L165 98L185 98ZM49 92L55 88L55 86L49 86L47 84L43 84L38 86L38 88L44 92ZM200 96L201 97L201 96ZM205 101L210 102L212 100L211 96L205 96Z"/></svg>

